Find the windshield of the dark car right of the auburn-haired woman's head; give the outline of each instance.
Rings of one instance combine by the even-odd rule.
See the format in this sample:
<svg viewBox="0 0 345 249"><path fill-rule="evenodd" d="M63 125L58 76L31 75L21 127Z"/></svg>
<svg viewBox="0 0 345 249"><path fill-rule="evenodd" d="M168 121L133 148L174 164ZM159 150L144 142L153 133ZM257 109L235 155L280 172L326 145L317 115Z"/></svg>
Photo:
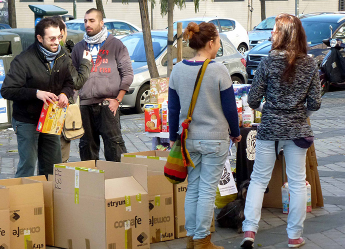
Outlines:
<svg viewBox="0 0 345 249"><path fill-rule="evenodd" d="M339 26L337 23L309 22L303 19L301 22L305 31L308 45L319 44L322 43L322 40L329 38L329 25L333 27L333 30L337 29Z"/></svg>

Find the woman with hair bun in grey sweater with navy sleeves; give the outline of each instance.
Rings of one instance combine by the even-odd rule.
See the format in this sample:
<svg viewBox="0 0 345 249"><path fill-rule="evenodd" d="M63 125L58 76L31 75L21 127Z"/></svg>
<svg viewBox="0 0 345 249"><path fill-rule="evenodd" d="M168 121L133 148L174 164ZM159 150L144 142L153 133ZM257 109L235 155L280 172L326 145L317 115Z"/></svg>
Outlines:
<svg viewBox="0 0 345 249"><path fill-rule="evenodd" d="M198 71L206 59L215 58L220 47L219 34L213 24L189 23L183 38L196 53L192 59L177 63L170 75L171 147L182 132L180 124L187 118ZM226 67L211 61L201 82L186 139L186 149L195 166L187 167L188 186L184 203L187 249L223 249L210 241L209 228L229 139L236 142L241 139L233 87Z"/></svg>

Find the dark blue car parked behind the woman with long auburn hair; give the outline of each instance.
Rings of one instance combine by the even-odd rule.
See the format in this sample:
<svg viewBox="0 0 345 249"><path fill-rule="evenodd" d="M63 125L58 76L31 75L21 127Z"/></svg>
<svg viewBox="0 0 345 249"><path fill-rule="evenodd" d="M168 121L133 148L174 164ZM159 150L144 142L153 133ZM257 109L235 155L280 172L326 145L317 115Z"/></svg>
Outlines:
<svg viewBox="0 0 345 249"><path fill-rule="evenodd" d="M328 49L322 40L331 38L342 39L345 42L345 13L310 13L299 17L305 30L306 40L309 45L309 56L320 65ZM330 35L329 26L332 26ZM268 56L271 49L271 42L265 41L249 50L246 56L246 71L248 82L251 83L260 60Z"/></svg>

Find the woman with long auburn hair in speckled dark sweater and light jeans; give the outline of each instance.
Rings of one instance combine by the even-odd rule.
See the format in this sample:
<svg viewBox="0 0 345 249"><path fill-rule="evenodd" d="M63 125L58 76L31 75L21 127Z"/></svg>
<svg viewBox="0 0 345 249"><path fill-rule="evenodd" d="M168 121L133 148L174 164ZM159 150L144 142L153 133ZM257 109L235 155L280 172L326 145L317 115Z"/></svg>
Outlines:
<svg viewBox="0 0 345 249"><path fill-rule="evenodd" d="M301 235L306 213L305 155L313 142L306 118L321 105L318 68L307 55L306 36L297 17L279 14L271 41L272 49L261 60L248 94L249 106L262 108L262 117L244 208L244 238L240 244L244 248L253 247L263 193L280 149L284 150L290 193L287 245L297 248L304 244ZM266 102L262 106L263 97Z"/></svg>

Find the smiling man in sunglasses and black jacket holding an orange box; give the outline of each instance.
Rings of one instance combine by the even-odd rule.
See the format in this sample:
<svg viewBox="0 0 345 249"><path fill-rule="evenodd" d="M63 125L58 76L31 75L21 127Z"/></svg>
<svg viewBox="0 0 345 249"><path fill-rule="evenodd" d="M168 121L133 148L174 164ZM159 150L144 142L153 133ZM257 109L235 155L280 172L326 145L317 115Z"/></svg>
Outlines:
<svg viewBox="0 0 345 249"><path fill-rule="evenodd" d="M73 93L72 63L59 42L58 22L42 19L35 27L35 43L16 56L1 87L1 96L13 101L12 126L17 135L19 163L15 177L53 173L61 163L60 136L36 131L43 104L57 101L63 108Z"/></svg>

